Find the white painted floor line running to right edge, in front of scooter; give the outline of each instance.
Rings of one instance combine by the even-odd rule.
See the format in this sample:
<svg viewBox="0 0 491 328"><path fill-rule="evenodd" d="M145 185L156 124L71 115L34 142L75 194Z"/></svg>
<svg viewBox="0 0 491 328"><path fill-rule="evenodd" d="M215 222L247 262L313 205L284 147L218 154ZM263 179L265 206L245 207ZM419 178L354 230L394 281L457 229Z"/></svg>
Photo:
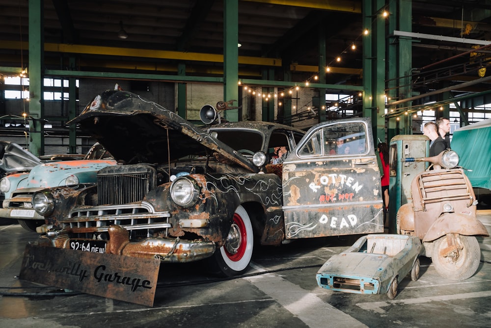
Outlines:
<svg viewBox="0 0 491 328"><path fill-rule="evenodd" d="M454 301L454 300L465 300L465 299L490 297L490 296L491 296L491 291L484 291L484 292L474 292L474 293L464 293L464 294L419 297L419 298L405 299L405 300L366 302L366 303L357 303L356 305L364 310L374 311L383 314L386 313L386 311L383 310L382 307L390 306L392 304L420 304L420 303L427 303L433 301Z"/></svg>

